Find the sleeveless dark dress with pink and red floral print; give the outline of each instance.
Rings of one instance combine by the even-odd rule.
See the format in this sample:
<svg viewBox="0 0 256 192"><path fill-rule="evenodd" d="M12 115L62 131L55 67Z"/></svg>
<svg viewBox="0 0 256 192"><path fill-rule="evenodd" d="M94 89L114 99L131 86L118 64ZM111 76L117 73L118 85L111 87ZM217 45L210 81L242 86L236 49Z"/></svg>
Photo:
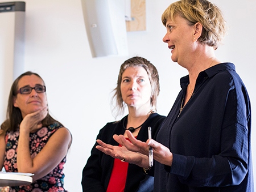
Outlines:
<svg viewBox="0 0 256 192"><path fill-rule="evenodd" d="M60 123L53 123L47 127L42 127L35 133L30 133L30 154L34 158L46 145L48 139L56 130L63 127ZM17 169L17 147L19 142L19 130L7 131L6 133L6 152L3 166L6 172L18 172ZM10 187L10 192L65 192L63 187L63 165L66 162L66 157L61 160L50 173L46 176L32 182L31 185L23 185Z"/></svg>

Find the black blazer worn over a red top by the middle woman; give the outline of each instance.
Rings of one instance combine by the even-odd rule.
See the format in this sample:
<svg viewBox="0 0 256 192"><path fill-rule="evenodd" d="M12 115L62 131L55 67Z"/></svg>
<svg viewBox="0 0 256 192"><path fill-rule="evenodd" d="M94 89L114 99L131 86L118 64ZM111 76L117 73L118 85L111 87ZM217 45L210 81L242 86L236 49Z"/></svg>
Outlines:
<svg viewBox="0 0 256 192"><path fill-rule="evenodd" d="M147 127L151 126L152 138L156 138L156 134L162 125L165 116L160 116L158 113L153 113L147 120L143 123L141 130L138 133L137 139L146 142L148 139ZM125 121L126 122L123 122ZM101 139L103 142L112 144L113 146L118 146L118 143L113 139L114 134L124 134L125 129L123 128L123 123L126 127L127 116L122 118L118 122L107 123L97 136L97 139ZM91 155L87 160L87 163L82 171L82 190L85 191L106 191L110 175L112 173L112 168L114 164L114 158L105 155L105 153L96 149L97 143L94 144ZM146 176L143 174L143 169L134 164L129 164L127 170L127 178L125 191L152 191L154 185L154 178ZM148 189L150 188L150 189ZM143 189L143 190L142 190Z"/></svg>

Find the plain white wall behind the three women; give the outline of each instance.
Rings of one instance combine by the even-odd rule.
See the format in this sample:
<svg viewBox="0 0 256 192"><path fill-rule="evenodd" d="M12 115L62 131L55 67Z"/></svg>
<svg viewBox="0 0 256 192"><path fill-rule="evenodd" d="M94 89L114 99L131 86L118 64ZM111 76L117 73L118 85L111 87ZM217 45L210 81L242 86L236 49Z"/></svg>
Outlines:
<svg viewBox="0 0 256 192"><path fill-rule="evenodd" d="M6 0L0 0L6 2ZM79 192L81 172L98 131L114 121L110 92L115 87L119 66L125 59L142 56L159 70L158 112L167 115L180 91L179 79L187 74L171 61L162 41L166 29L160 16L174 1L147 0L147 31L129 32L129 57L92 58L85 32L80 0L25 0L25 71L38 72L46 82L49 110L73 135L65 164L65 188ZM225 45L216 51L222 61L234 62L256 109L254 56L256 45L255 0L214 0L230 26ZM252 22L254 21L254 22ZM6 110L6 109L1 109ZM253 128L255 126L253 116ZM253 129L252 138L256 132ZM252 139L254 167L256 145ZM256 170L256 169L254 169ZM254 171L256 174L256 171ZM256 175L255 175L256 177Z"/></svg>

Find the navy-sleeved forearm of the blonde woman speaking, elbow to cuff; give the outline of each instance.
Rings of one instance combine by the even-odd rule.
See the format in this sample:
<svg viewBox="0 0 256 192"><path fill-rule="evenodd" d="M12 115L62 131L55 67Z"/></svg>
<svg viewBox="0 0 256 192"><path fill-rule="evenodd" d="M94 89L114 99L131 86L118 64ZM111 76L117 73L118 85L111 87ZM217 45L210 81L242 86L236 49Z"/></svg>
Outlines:
<svg viewBox="0 0 256 192"><path fill-rule="evenodd" d="M173 154L172 167L167 172L176 174L180 182L197 187L224 187L239 185L248 171L245 159L221 153L210 158L196 158Z"/></svg>

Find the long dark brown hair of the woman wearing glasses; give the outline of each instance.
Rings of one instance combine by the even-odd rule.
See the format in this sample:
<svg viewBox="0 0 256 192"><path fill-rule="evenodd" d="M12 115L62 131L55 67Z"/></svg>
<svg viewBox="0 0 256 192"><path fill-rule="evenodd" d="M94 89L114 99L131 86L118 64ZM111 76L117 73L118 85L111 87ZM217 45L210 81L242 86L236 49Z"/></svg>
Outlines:
<svg viewBox="0 0 256 192"><path fill-rule="evenodd" d="M13 82L13 85L11 86L11 90L10 90L8 106L7 106L7 113L6 113L6 120L1 125L1 129L2 130L5 130L5 131L16 131L16 130L18 130L20 122L22 122L22 120L23 120L22 113L20 112L20 109L16 108L13 105L13 101L14 101L14 98L16 97L16 95L17 95L19 80L23 76L26 76L26 75L29 75L29 76L30 75L36 75L40 79L42 79L40 77L40 75L36 74L35 72L31 72L31 71L24 72L18 78L15 79L15 81ZM44 83L44 80L43 80L43 83ZM44 85L45 85L45 83L44 83ZM49 112L48 112L46 118L44 118L44 120L42 121L42 124L43 124L43 126L48 126L48 125L50 125L52 123L60 123L60 122L58 122L55 119L53 119L49 115Z"/></svg>

